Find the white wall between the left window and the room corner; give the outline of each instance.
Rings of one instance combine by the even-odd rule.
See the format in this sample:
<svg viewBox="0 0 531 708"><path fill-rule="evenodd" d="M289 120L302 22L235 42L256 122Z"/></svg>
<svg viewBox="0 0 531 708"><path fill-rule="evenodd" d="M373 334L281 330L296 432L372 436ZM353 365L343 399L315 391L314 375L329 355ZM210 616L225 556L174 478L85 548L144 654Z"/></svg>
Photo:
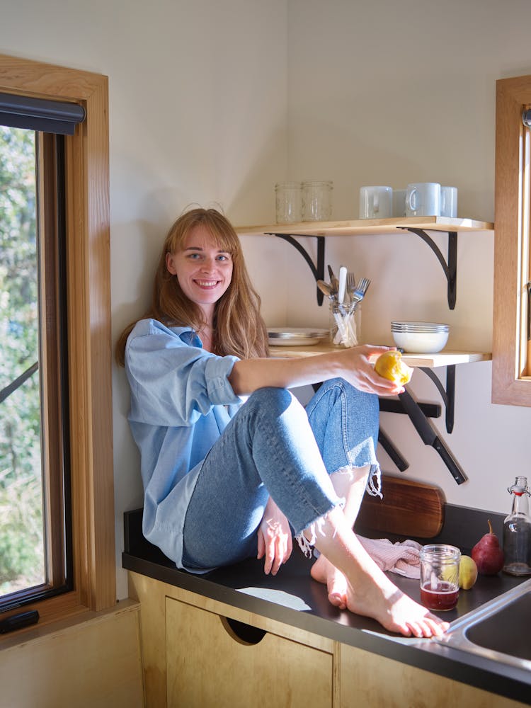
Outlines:
<svg viewBox="0 0 531 708"><path fill-rule="evenodd" d="M286 1L4 0L2 8L1 53L109 76L117 338L145 308L166 231L190 202L219 202L235 223L270 221L272 185L287 164ZM116 368L113 404L123 598L122 514L142 506L142 485Z"/></svg>

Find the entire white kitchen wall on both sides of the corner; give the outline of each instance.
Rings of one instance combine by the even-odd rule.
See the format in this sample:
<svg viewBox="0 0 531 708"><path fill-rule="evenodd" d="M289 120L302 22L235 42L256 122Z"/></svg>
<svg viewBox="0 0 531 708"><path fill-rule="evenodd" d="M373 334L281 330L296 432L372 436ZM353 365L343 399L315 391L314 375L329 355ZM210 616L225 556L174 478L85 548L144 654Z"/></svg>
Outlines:
<svg viewBox="0 0 531 708"><path fill-rule="evenodd" d="M362 184L433 180L459 187L459 215L493 219L495 81L531 73L527 0L3 6L0 52L109 76L114 337L147 304L166 229L190 202L219 202L235 224L270 223L275 181L330 178L334 217L346 219L358 215ZM328 324L292 246L246 237L244 248L267 324ZM451 346L490 350L491 235L459 236L453 312L442 269L416 236L329 239L326 261L372 278L367 341L390 343L391 319L433 319L452 325ZM439 484L452 503L505 511L506 486L527 471L531 409L492 406L490 377L489 363L458 367L455 432L436 423L467 484L455 484L405 416L385 413L382 426L409 460L407 476ZM416 374L414 391L438 401L425 379ZM122 513L142 503L122 370L113 400L120 569ZM118 580L125 597L125 573Z"/></svg>

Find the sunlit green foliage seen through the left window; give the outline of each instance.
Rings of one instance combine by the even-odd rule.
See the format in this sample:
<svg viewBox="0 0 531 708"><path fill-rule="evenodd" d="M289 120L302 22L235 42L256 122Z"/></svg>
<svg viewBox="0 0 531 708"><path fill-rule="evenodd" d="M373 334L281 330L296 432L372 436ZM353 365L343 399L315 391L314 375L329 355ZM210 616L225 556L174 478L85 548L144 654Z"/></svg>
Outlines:
<svg viewBox="0 0 531 708"><path fill-rule="evenodd" d="M0 389L39 360L35 132L0 126ZM0 595L42 583L39 375L0 403Z"/></svg>

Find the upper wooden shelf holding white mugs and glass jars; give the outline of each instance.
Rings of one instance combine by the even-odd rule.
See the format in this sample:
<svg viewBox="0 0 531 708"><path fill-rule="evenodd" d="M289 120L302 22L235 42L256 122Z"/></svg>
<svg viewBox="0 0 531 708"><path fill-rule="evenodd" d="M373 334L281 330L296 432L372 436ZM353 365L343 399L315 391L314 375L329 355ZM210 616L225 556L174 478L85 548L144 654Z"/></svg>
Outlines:
<svg viewBox="0 0 531 708"><path fill-rule="evenodd" d="M491 222L449 217L403 217L400 219L355 219L332 222L297 222L296 224L265 224L236 227L236 233L290 234L292 236L356 236L391 234L404 229L426 229L441 232L493 231Z"/></svg>

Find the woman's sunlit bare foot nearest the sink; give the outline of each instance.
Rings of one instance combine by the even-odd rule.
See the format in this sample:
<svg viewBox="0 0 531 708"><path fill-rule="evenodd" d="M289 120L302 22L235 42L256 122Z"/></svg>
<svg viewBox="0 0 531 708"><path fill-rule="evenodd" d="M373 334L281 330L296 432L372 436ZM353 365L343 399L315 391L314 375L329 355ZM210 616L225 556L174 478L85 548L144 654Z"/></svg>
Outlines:
<svg viewBox="0 0 531 708"><path fill-rule="evenodd" d="M372 617L390 632L399 632L404 636L430 637L444 634L448 622L418 605L405 595L387 576L365 578L354 590L347 583L347 607L357 615Z"/></svg>

